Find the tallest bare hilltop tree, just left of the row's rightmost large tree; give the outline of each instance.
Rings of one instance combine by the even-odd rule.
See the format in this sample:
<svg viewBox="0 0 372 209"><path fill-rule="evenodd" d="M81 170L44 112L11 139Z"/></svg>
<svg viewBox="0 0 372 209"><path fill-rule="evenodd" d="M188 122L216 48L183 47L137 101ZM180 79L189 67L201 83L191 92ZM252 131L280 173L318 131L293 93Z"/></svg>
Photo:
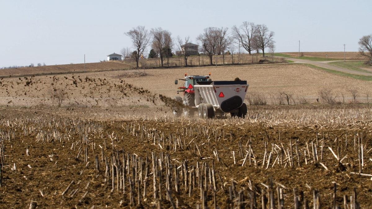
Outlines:
<svg viewBox="0 0 372 209"><path fill-rule="evenodd" d="M232 35L249 54L254 50L253 37L255 32L256 25L253 22L245 21L239 28L235 25L232 26Z"/></svg>

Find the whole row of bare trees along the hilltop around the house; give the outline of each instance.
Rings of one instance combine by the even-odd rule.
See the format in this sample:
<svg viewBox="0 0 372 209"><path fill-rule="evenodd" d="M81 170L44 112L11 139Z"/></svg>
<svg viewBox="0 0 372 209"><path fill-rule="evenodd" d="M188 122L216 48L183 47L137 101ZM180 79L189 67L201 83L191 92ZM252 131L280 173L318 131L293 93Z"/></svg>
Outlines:
<svg viewBox="0 0 372 209"><path fill-rule="evenodd" d="M172 33L169 30L162 28L146 29L145 26L137 26L124 33L128 36L132 45L135 48L131 51L126 47L121 50L124 58L132 58L136 61L136 67L139 67L138 62L141 54L151 45L149 57L160 58L161 67L164 66L164 60L172 57L172 51L178 49L183 56L185 65L187 66L187 58L190 56L190 50L187 45L190 44L190 36L177 36L173 41ZM249 54L252 52L262 51L265 56L265 49L270 48L273 51L275 41L273 40L275 33L270 31L266 25L256 25L253 22L243 22L240 26L232 26L229 32L228 28L208 27L196 38L198 41L199 52L209 57L209 64L213 64L213 55L224 55L227 50L233 53L237 45L244 48ZM186 47L183 47L186 46ZM168 64L168 61L167 61Z"/></svg>

